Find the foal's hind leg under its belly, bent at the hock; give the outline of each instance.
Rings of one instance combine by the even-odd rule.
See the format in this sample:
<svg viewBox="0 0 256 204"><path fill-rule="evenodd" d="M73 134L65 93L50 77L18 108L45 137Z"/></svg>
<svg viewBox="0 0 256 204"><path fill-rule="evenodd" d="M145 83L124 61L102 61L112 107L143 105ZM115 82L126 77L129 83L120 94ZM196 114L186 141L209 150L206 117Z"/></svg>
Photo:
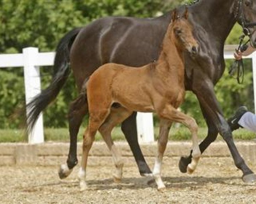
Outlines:
<svg viewBox="0 0 256 204"><path fill-rule="evenodd" d="M124 121L128 116L131 115L131 111L121 107L121 108L111 108L111 113L108 115L105 122L99 128L99 132L102 134L103 139L108 145L109 150L111 151L113 162L116 167L116 171L113 173L113 178L116 183L121 181L122 178L122 167L124 165L122 161L122 155L116 145L113 143L111 138L111 131L113 128Z"/></svg>

